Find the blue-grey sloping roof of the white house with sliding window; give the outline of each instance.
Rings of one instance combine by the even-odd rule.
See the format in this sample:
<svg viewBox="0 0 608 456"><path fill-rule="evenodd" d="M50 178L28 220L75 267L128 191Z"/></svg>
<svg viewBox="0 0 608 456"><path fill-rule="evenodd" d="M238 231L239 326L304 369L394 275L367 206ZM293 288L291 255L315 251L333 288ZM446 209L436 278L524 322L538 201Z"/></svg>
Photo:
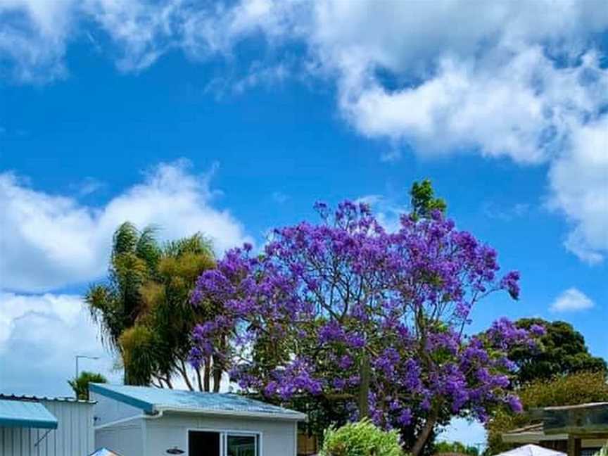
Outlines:
<svg viewBox="0 0 608 456"><path fill-rule="evenodd" d="M243 414L260 417L305 419L305 415L232 393L199 393L147 386L89 384L89 390L99 395L137 407L148 414L160 410L201 412L201 414Z"/></svg>

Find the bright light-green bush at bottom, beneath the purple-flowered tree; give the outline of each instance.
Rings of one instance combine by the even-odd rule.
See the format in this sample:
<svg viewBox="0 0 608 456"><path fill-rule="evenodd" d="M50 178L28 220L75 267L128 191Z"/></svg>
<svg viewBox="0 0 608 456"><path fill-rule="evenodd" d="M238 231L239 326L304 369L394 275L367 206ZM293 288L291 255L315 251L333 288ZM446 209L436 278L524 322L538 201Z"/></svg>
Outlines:
<svg viewBox="0 0 608 456"><path fill-rule="evenodd" d="M364 419L325 431L319 456L403 456L398 431L382 431Z"/></svg>

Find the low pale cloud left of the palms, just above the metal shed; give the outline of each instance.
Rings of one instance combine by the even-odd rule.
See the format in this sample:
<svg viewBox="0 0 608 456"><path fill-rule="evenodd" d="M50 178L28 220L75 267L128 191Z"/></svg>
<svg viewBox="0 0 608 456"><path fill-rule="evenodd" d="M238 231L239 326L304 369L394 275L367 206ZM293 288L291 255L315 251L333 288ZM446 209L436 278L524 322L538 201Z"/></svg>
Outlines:
<svg viewBox="0 0 608 456"><path fill-rule="evenodd" d="M81 362L81 369L119 379L80 296L0 292L1 391L70 395L77 354L100 358Z"/></svg>

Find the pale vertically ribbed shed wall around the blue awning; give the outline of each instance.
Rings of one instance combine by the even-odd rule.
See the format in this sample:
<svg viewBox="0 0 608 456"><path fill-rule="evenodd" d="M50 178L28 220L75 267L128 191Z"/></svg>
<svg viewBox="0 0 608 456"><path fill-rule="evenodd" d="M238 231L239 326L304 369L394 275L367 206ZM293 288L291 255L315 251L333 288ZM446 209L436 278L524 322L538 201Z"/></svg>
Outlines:
<svg viewBox="0 0 608 456"><path fill-rule="evenodd" d="M39 402L57 418L57 429L0 426L1 456L87 456L94 451L92 403Z"/></svg>

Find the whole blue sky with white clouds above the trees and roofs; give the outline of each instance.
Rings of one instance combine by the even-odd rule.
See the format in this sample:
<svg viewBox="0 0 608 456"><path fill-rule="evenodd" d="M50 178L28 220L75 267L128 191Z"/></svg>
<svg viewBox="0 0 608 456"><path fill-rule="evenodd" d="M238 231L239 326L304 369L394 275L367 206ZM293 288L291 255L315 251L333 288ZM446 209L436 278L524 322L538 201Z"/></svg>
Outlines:
<svg viewBox="0 0 608 456"><path fill-rule="evenodd" d="M565 319L608 359L600 6L0 3L0 390L67 394L76 353L119 378L78 294L123 220L221 252L317 200L391 226L426 177L522 274L471 331Z"/></svg>

